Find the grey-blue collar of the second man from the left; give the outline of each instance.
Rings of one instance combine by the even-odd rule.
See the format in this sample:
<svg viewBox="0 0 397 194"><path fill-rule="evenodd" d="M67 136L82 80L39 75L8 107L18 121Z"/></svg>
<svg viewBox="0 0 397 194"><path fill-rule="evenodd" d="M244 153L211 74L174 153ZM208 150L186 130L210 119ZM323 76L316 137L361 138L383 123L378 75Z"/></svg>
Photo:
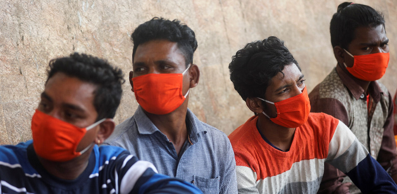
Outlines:
<svg viewBox="0 0 397 194"><path fill-rule="evenodd" d="M160 130L150 121L149 117L146 116L143 111L141 105L138 106L137 110L134 113L135 123L137 124L139 134L154 134L154 132ZM196 117L195 114L188 108L186 113L186 124L189 131L189 137L192 143L198 141L198 134L206 132L203 124Z"/></svg>

